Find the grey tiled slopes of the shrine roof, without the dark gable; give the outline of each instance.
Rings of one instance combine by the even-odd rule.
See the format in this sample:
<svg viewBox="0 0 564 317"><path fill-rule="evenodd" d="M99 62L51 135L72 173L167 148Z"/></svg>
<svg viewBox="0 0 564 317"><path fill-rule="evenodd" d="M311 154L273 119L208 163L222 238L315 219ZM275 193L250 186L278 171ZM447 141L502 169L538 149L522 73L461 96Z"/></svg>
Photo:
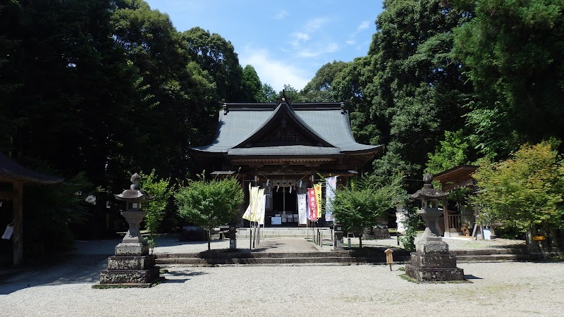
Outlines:
<svg viewBox="0 0 564 317"><path fill-rule="evenodd" d="M310 147L291 145L278 147L233 148L259 131L274 115L276 104L227 104L227 111L219 113L219 126L212 144L195 147L197 151L223 153L229 156L275 156L275 155L336 155L356 151L372 151L379 145L365 145L355 142L350 131L347 111L341 104L292 104L296 118L334 147Z"/></svg>

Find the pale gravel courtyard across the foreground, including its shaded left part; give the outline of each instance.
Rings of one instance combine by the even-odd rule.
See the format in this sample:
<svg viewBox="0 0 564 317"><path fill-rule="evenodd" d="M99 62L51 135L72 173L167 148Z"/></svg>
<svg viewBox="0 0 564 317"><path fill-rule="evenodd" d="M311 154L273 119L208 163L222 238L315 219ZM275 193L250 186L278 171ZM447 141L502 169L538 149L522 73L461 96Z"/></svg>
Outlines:
<svg viewBox="0 0 564 317"><path fill-rule="evenodd" d="M150 289L92 289L99 256L0 282L0 316L563 316L564 263L460 263L469 283L399 265L167 266Z"/></svg>

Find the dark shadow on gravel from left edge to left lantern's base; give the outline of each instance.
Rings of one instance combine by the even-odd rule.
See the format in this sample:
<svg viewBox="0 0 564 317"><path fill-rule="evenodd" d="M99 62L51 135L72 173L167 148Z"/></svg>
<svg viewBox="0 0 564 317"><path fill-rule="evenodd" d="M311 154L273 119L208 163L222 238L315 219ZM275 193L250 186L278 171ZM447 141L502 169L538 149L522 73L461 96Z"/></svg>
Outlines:
<svg viewBox="0 0 564 317"><path fill-rule="evenodd" d="M26 266L0 277L0 295L38 285L92 284L108 265L109 254L61 255L59 261Z"/></svg>

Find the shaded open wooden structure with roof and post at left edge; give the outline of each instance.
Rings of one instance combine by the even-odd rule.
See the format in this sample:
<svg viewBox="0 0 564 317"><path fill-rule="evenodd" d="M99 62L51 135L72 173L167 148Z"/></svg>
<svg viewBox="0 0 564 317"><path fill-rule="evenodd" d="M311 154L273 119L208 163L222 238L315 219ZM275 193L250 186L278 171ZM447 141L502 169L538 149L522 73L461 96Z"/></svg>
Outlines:
<svg viewBox="0 0 564 317"><path fill-rule="evenodd" d="M23 185L55 184L62 181L61 178L54 178L27 169L0 153L0 184L6 188L6 190L0 191L0 199L13 201L14 266L23 262ZM10 188L11 190L9 190Z"/></svg>

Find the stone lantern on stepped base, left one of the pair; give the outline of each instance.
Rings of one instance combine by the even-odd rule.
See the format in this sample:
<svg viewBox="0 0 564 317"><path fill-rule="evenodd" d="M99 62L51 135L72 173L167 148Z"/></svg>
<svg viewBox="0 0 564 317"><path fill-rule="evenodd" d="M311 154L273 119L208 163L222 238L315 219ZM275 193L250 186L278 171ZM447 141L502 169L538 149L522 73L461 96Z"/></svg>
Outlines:
<svg viewBox="0 0 564 317"><path fill-rule="evenodd" d="M130 189L125 189L114 197L125 201L125 211L121 214L128 222L128 232L116 246L116 255L110 256L108 269L100 273L100 283L94 287L151 287L159 280L159 267L155 266L155 256L149 255L149 246L139 231L139 225L147 215L142 210L142 202L153 199L139 187L140 176L131 176Z"/></svg>

